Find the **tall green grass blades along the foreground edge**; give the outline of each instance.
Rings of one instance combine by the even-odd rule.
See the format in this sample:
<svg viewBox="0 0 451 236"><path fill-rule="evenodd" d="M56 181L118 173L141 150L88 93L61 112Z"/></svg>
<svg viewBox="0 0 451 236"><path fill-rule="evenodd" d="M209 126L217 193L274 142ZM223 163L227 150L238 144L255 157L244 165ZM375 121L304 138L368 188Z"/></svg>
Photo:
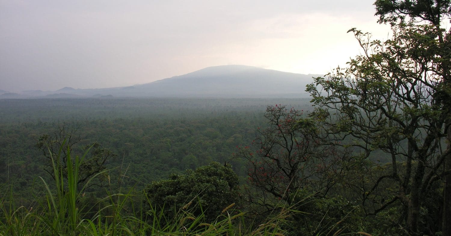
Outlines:
<svg viewBox="0 0 451 236"><path fill-rule="evenodd" d="M64 146L64 145L63 145ZM80 164L85 160L89 149L82 157L73 157L67 150L67 170L60 165L60 155L63 146L56 155L51 155L55 182L53 188L43 178L45 197L32 208L16 207L12 194L1 196L0 199L0 236L283 236L281 226L285 223L289 211L281 213L266 222L253 226L246 224L244 213L235 213L229 206L224 209L214 222L206 222L203 213L193 215L183 208L175 218L165 219L162 209L152 208L151 219L146 214L135 211L134 204L143 204L143 200L135 201L132 190L127 193L108 193L101 202L108 204L98 209L82 205L80 199L89 183L98 175L92 176L78 190ZM50 152L51 153L51 152ZM64 175L67 173L67 176ZM8 200L7 200L8 199ZM100 204L96 204L100 206ZM132 206L131 210L126 209ZM138 205L142 208L142 205ZM83 217L83 212L94 211L90 218ZM233 213L232 213L233 212Z"/></svg>

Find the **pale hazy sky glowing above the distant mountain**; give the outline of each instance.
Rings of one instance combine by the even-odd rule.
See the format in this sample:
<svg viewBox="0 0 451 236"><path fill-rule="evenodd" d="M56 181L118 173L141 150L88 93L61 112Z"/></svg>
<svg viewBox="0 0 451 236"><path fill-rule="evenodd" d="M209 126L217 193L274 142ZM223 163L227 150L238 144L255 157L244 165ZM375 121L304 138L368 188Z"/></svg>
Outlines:
<svg viewBox="0 0 451 236"><path fill-rule="evenodd" d="M326 74L386 39L374 0L0 0L0 89L106 88L214 65Z"/></svg>

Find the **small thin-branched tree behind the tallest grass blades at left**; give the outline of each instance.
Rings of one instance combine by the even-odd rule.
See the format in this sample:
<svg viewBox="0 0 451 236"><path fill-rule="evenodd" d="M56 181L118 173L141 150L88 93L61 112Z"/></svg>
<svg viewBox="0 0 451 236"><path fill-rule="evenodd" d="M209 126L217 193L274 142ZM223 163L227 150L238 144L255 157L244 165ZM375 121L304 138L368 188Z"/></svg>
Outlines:
<svg viewBox="0 0 451 236"><path fill-rule="evenodd" d="M43 156L46 158L48 165L44 170L52 176L55 177L53 166L61 170L63 177L67 179L67 164L68 164L68 152L70 155L74 156L74 151L77 144L81 143L82 138L77 134L78 127L70 125L62 125L52 134L43 134L39 137L36 143L36 147L42 151ZM89 149L90 148L90 149ZM77 180L78 190L82 188L87 183L87 180L106 170L106 161L115 157L116 154L111 152L107 148L102 148L100 143L94 142L88 145L84 145L80 151L87 151L89 149L89 154L87 159L83 160L79 166L79 174ZM92 185L102 185L102 181L106 180L106 172L104 175L98 175L97 179L100 183L90 183Z"/></svg>

